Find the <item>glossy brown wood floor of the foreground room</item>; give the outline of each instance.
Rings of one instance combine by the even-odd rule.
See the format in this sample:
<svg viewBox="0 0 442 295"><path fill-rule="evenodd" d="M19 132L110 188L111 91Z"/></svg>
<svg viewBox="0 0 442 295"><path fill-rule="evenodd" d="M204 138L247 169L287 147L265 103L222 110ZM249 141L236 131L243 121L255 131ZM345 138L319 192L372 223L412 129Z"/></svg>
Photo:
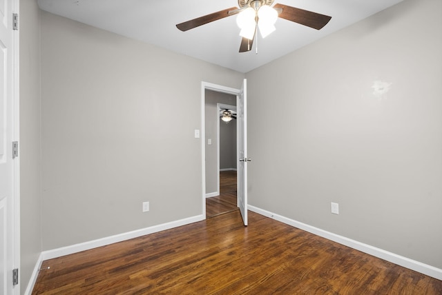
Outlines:
<svg viewBox="0 0 442 295"><path fill-rule="evenodd" d="M44 261L32 294L442 294L442 281L249 212Z"/></svg>

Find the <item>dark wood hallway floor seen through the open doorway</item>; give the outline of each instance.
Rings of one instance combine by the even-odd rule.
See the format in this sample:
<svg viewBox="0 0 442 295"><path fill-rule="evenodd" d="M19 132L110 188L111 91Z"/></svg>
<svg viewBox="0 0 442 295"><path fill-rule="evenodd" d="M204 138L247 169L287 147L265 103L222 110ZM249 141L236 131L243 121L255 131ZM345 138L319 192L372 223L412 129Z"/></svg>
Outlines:
<svg viewBox="0 0 442 295"><path fill-rule="evenodd" d="M206 199L206 218L238 210L236 203L236 171L220 172L220 195Z"/></svg>

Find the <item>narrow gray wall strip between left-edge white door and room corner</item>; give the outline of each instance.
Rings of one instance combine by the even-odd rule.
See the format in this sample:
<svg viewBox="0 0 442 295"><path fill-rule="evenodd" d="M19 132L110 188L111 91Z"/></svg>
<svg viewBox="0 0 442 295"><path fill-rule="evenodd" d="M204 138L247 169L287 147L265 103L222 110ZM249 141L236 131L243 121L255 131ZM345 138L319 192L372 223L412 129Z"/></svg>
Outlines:
<svg viewBox="0 0 442 295"><path fill-rule="evenodd" d="M20 1L20 282L41 253L40 30L37 1Z"/></svg>

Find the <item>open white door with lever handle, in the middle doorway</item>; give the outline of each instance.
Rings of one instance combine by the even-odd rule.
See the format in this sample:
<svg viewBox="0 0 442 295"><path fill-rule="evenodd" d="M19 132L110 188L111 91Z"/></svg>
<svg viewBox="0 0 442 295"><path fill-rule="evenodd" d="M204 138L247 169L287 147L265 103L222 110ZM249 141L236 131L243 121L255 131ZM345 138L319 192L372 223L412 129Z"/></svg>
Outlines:
<svg viewBox="0 0 442 295"><path fill-rule="evenodd" d="M244 79L240 95L236 102L236 128L238 145L238 163L237 163L237 202L242 215L244 225L247 225L247 80Z"/></svg>

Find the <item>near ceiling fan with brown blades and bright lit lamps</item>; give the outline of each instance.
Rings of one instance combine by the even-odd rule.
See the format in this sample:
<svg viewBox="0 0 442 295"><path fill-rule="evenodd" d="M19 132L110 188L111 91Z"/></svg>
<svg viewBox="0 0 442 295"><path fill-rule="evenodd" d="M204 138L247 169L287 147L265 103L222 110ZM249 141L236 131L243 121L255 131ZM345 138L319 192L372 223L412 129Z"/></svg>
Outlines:
<svg viewBox="0 0 442 295"><path fill-rule="evenodd" d="M267 36L275 30L274 23L278 17L300 23L301 25L320 30L332 17L300 8L294 8L284 4L271 5L274 0L238 0L240 8L231 7L218 12L197 17L184 23L178 23L176 26L183 32L193 28L224 19L233 14L238 14L237 23L241 28L240 36L242 37L240 44L240 52L251 50L253 39L259 28L262 37Z"/></svg>

